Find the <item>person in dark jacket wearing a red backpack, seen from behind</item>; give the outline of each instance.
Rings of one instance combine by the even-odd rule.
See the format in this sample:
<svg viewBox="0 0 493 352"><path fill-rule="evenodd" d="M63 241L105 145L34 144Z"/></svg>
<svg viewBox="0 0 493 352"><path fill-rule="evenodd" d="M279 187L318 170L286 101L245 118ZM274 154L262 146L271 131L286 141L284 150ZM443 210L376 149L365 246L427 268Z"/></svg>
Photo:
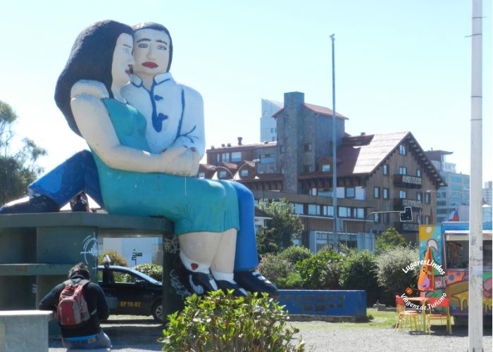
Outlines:
<svg viewBox="0 0 493 352"><path fill-rule="evenodd" d="M108 304L103 289L89 280L87 266L78 263L68 272L68 280L39 302L39 310L56 312L65 348L111 348L108 335L99 326L99 320L109 317Z"/></svg>

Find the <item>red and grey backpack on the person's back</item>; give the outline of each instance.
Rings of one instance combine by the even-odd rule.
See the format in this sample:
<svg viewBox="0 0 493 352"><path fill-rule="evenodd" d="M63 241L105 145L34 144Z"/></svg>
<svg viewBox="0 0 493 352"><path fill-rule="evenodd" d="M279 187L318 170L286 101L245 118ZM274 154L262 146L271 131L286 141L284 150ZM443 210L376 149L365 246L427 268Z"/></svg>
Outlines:
<svg viewBox="0 0 493 352"><path fill-rule="evenodd" d="M89 284L89 280L80 280L74 283L72 280L63 282L65 287L61 291L56 308L56 320L62 327L80 327L84 325L91 315L87 302L84 298L84 287Z"/></svg>

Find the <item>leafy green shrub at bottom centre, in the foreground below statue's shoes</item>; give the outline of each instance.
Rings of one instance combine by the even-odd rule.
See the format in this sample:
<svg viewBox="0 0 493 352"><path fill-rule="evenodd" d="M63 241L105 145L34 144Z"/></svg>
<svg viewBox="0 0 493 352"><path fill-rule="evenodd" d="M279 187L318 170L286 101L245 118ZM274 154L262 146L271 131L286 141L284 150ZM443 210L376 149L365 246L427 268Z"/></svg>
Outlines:
<svg viewBox="0 0 493 352"><path fill-rule="evenodd" d="M287 312L267 295L232 296L214 291L195 294L181 312L168 315L163 351L304 351L290 341L299 329L286 327Z"/></svg>

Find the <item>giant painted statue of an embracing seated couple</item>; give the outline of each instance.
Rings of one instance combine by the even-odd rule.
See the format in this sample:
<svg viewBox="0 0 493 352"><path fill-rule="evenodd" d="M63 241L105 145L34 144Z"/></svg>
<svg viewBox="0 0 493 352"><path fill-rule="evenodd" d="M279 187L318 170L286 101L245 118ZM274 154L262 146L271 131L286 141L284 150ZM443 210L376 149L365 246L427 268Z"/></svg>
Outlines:
<svg viewBox="0 0 493 352"><path fill-rule="evenodd" d="M256 270L251 191L196 178L205 153L204 106L198 92L173 80L172 58L163 25L106 20L83 30L55 101L91 150L30 184L30 200L0 214L56 212L84 191L108 213L173 221L180 241L175 269L189 291L277 296Z"/></svg>

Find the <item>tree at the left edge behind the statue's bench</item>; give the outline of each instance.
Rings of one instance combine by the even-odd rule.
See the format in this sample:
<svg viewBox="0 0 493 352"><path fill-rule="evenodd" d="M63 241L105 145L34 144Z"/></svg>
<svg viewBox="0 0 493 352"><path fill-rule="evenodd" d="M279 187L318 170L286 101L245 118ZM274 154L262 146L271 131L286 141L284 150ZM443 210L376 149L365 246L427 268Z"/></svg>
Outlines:
<svg viewBox="0 0 493 352"><path fill-rule="evenodd" d="M20 150L11 153L15 137L12 127L17 119L11 106L0 101L0 205L24 196L27 185L43 171L36 162L46 155L46 150L31 139L23 139Z"/></svg>

